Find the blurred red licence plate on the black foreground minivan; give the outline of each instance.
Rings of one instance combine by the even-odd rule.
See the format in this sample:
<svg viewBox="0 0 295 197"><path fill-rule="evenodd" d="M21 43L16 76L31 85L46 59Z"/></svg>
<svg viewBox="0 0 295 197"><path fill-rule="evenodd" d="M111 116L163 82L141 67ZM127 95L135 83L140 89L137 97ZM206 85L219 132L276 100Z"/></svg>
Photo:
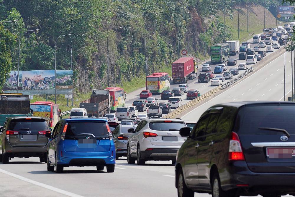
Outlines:
<svg viewBox="0 0 295 197"><path fill-rule="evenodd" d="M266 148L266 156L269 158L292 158L295 156L295 147L288 148Z"/></svg>

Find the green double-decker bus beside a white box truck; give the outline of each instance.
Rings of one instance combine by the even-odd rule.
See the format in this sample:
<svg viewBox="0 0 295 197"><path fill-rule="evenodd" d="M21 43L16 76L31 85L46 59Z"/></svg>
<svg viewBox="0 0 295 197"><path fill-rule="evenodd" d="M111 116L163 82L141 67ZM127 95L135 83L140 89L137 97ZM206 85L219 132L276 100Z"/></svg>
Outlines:
<svg viewBox="0 0 295 197"><path fill-rule="evenodd" d="M230 58L228 43L215 44L210 47L210 51L212 63L224 63Z"/></svg>

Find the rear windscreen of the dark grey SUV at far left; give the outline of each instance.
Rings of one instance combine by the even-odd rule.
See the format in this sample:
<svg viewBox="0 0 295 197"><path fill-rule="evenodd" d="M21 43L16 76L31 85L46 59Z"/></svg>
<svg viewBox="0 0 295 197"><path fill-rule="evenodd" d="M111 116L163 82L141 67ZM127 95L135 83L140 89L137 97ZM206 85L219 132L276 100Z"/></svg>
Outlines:
<svg viewBox="0 0 295 197"><path fill-rule="evenodd" d="M47 122L44 119L14 119L10 122L8 130L12 131L47 131Z"/></svg>

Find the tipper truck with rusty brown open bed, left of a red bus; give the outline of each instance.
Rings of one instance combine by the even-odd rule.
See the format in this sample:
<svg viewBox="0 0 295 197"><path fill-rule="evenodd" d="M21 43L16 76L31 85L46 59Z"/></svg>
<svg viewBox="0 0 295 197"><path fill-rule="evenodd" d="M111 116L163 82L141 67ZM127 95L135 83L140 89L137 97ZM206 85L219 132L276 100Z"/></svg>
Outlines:
<svg viewBox="0 0 295 197"><path fill-rule="evenodd" d="M87 103L88 102L88 103ZM86 103L80 103L80 108L85 108L89 117L102 117L110 112L110 94L109 90L92 90L90 100Z"/></svg>

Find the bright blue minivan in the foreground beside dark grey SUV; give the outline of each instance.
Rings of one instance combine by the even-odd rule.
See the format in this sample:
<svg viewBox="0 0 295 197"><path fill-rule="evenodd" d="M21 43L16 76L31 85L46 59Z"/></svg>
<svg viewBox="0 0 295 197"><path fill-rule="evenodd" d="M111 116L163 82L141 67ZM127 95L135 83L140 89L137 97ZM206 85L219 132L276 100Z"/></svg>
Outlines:
<svg viewBox="0 0 295 197"><path fill-rule="evenodd" d="M72 118L60 120L51 133L47 149L47 171L62 173L68 166L96 166L114 172L116 151L106 120Z"/></svg>

